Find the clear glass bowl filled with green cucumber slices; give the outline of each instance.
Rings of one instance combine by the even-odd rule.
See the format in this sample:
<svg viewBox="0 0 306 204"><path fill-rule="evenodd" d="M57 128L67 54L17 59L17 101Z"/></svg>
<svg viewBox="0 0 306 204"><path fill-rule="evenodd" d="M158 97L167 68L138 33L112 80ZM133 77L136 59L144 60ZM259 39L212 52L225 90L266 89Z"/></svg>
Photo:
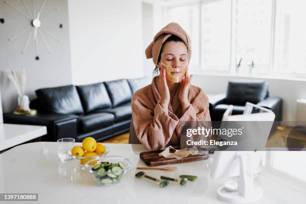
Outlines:
<svg viewBox="0 0 306 204"><path fill-rule="evenodd" d="M94 161L94 164L92 161ZM130 166L131 161L121 156L104 156L85 163L85 167L94 180L102 186L115 185L120 182Z"/></svg>

